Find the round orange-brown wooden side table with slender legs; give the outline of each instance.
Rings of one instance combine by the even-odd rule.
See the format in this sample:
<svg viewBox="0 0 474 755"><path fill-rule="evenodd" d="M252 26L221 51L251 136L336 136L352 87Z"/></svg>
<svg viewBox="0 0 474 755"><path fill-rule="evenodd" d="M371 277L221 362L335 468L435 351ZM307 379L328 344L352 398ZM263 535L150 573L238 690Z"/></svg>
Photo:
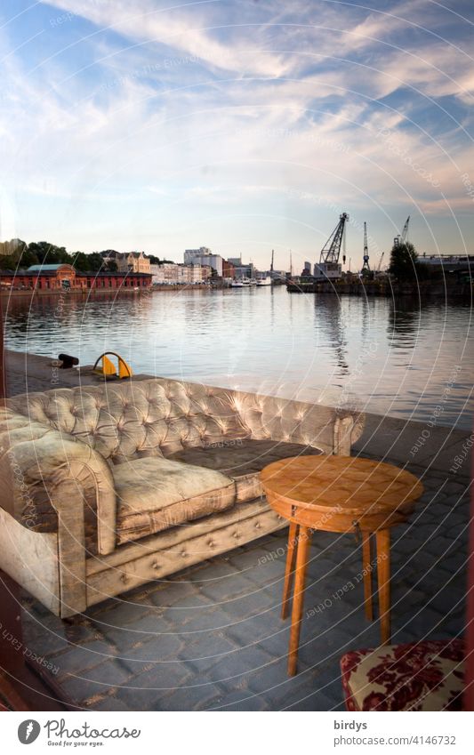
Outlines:
<svg viewBox="0 0 474 755"><path fill-rule="evenodd" d="M373 619L371 534L375 534L382 643L390 642L390 527L406 520L423 492L410 472L352 456L296 456L269 464L261 484L272 509L288 519L282 618L294 574L288 674L296 673L304 583L313 530L356 533L362 538L364 603Z"/></svg>

